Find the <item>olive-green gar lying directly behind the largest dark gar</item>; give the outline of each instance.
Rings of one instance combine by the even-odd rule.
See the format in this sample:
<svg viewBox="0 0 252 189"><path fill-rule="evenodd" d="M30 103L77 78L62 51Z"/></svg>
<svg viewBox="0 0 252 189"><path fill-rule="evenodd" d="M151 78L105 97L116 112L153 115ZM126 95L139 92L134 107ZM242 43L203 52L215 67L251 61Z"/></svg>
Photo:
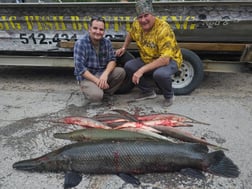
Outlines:
<svg viewBox="0 0 252 189"><path fill-rule="evenodd" d="M156 137L125 130L114 129L80 129L68 133L55 133L55 138L72 141L94 141L94 140L159 140Z"/></svg>

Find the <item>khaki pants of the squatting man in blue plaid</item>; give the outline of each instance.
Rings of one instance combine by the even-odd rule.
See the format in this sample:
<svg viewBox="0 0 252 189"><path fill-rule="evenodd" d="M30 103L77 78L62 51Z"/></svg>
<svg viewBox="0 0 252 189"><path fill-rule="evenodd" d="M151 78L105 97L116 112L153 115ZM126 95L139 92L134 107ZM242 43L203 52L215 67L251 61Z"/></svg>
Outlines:
<svg viewBox="0 0 252 189"><path fill-rule="evenodd" d="M104 94L113 95L115 93L124 81L125 75L123 68L115 67L108 77L108 84L110 86L108 89L100 89L94 82L84 79L80 82L80 90L85 98L91 102L101 101Z"/></svg>

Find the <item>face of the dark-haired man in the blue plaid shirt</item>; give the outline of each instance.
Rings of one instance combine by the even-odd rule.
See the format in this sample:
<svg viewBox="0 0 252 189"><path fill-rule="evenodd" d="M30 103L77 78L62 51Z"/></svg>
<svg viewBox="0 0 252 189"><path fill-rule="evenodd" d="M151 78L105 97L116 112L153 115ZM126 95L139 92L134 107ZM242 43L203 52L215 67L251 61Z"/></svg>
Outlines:
<svg viewBox="0 0 252 189"><path fill-rule="evenodd" d="M105 26L102 21L94 20L89 27L89 34L92 40L99 41L103 38L105 32Z"/></svg>

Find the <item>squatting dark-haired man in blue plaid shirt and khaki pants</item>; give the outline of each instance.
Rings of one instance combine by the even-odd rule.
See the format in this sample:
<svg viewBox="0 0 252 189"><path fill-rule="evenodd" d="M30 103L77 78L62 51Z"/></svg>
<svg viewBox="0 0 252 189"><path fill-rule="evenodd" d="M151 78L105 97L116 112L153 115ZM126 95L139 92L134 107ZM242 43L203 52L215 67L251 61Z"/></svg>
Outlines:
<svg viewBox="0 0 252 189"><path fill-rule="evenodd" d="M90 102L99 102L104 96L113 95L126 75L123 68L116 67L111 41L104 38L104 32L105 20L92 18L88 34L74 46L74 74Z"/></svg>

